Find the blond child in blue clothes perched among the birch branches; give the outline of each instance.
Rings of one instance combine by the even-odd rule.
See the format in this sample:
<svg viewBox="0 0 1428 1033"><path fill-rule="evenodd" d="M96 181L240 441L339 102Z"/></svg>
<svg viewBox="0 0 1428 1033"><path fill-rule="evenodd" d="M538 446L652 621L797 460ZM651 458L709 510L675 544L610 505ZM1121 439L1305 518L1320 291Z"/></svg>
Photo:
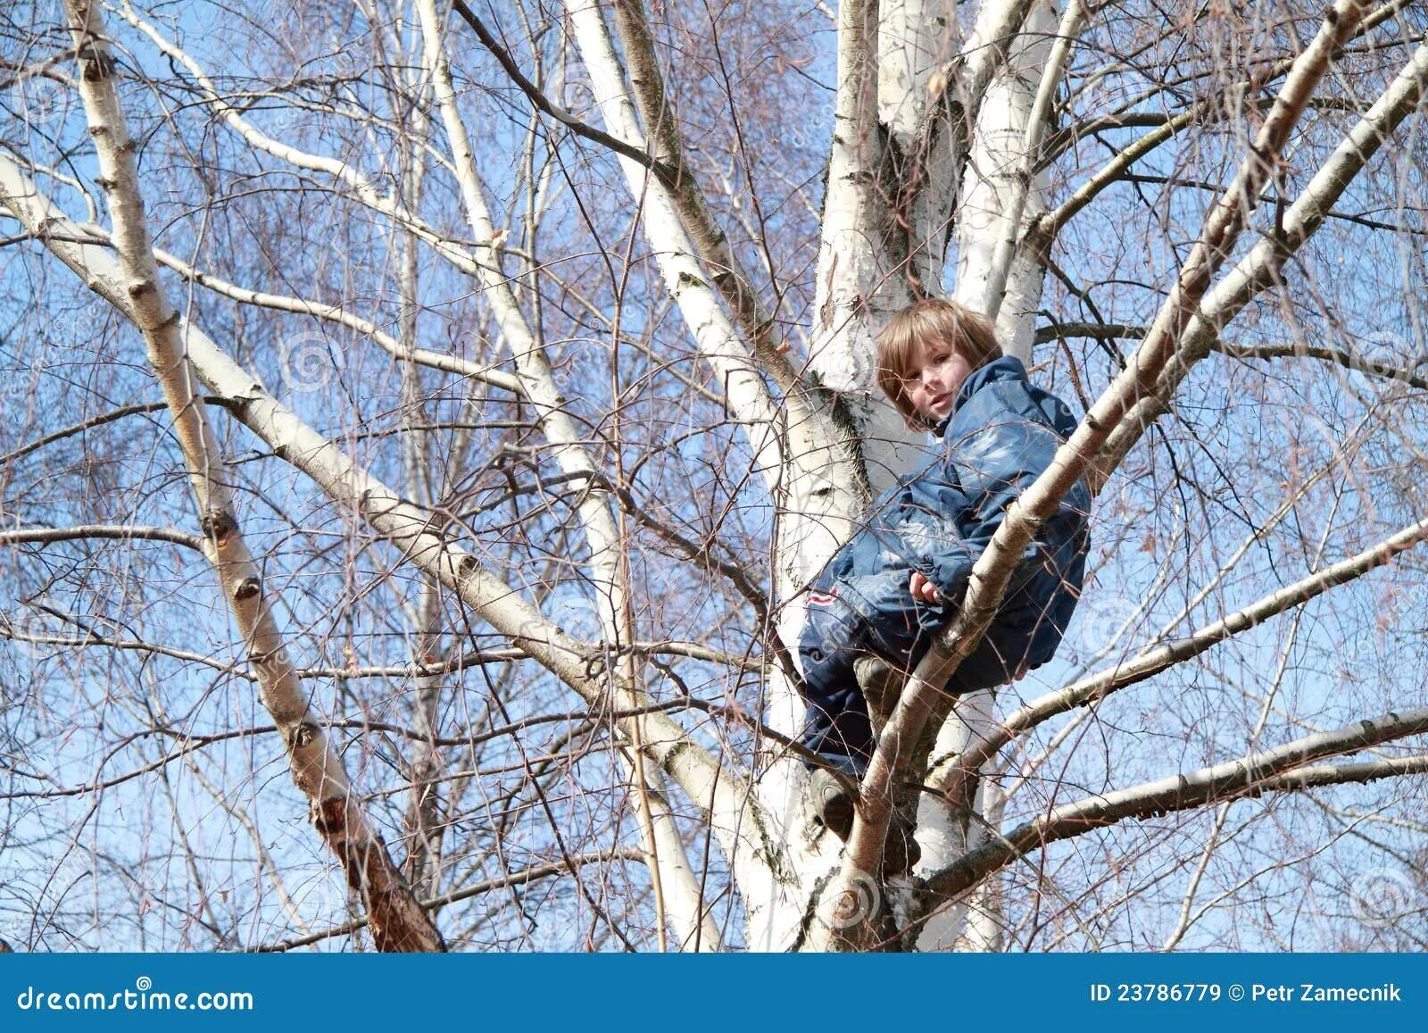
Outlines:
<svg viewBox="0 0 1428 1033"><path fill-rule="evenodd" d="M1007 507L1075 429L1071 410L1001 353L990 321L952 301L918 301L892 317L878 340L878 386L941 447L873 504L808 590L803 744L854 779L873 753L854 662L871 654L900 670L917 666L962 602ZM1051 659L1081 593L1090 504L1077 481L1028 546L948 693L990 689ZM814 767L813 790L820 819L847 839L854 800L844 783Z"/></svg>

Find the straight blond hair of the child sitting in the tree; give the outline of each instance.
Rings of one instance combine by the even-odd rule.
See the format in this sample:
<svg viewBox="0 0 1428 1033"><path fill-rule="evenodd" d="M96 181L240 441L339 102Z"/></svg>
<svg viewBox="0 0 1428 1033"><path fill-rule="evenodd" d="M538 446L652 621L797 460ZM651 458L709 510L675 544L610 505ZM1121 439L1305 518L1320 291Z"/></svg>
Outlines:
<svg viewBox="0 0 1428 1033"><path fill-rule="evenodd" d="M974 370L1001 359L1001 344L991 320L981 313L938 297L914 301L900 311L878 336L878 387L907 420L924 429L931 421L907 397L907 380L921 367L922 344L942 343L967 360Z"/></svg>

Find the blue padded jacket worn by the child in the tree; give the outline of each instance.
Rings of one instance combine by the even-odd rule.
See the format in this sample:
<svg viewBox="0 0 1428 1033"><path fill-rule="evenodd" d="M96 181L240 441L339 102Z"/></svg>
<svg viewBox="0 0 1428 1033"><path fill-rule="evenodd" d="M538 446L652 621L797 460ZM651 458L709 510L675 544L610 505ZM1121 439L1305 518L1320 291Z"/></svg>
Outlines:
<svg viewBox="0 0 1428 1033"><path fill-rule="evenodd" d="M1034 386L1018 359L978 367L937 429L938 454L874 501L863 529L810 587L857 612L887 659L905 663L912 644L915 660L961 604L1007 507L1074 429L1071 410ZM981 646L958 667L965 689L1000 684L1021 663L1038 667L1055 653L1081 594L1090 509L1078 480L1027 547ZM912 599L912 570L937 586L941 603Z"/></svg>

